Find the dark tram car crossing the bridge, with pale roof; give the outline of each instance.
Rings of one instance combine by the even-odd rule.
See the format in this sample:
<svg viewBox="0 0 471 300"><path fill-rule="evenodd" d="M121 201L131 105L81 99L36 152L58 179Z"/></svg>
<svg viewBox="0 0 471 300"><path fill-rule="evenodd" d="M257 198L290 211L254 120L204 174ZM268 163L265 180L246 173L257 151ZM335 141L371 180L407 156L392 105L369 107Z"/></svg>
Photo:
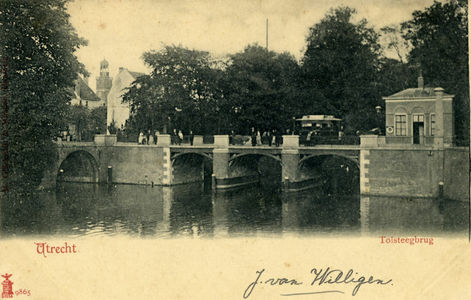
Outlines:
<svg viewBox="0 0 471 300"><path fill-rule="evenodd" d="M296 119L299 130L299 143L312 146L316 144L338 144L342 138L342 120L329 115L308 115Z"/></svg>

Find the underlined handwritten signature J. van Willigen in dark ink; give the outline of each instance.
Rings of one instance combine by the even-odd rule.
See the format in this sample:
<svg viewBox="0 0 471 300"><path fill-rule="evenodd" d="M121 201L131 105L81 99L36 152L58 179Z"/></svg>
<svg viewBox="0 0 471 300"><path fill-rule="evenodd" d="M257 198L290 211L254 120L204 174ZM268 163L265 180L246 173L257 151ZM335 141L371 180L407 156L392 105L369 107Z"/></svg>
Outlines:
<svg viewBox="0 0 471 300"><path fill-rule="evenodd" d="M254 291L257 285L304 285L302 281L297 279L288 279L288 278L269 278L267 280L262 279L263 272L265 269L256 271L256 278L255 280L250 283L247 289L244 292L244 299L247 299L252 292ZM355 273L355 275L354 275ZM360 287L364 284L379 284L379 285L387 285L392 282L392 279L388 281L382 279L374 279L373 276L370 276L369 279L366 279L368 276L360 276L358 277L358 273L350 269L347 273L344 273L342 270L338 269L331 269L330 267L323 270L323 269L312 269L311 274L314 277L312 281L310 281L310 286L314 285L332 285L332 284L356 284L352 291L352 296L355 296L358 293ZM391 284L392 285L392 284ZM328 291L312 291L312 292L304 292L304 293L291 293L291 294L281 294L281 296L298 296L298 295L309 295L309 294L324 294L324 293L341 293L344 294L343 291L339 290L328 290Z"/></svg>

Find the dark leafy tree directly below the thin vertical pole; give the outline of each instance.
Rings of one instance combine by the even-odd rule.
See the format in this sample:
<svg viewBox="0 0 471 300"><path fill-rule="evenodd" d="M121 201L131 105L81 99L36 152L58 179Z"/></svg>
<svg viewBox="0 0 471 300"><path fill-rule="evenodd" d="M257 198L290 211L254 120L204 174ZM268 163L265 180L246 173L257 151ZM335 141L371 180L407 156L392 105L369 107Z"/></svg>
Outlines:
<svg viewBox="0 0 471 300"><path fill-rule="evenodd" d="M224 88L230 127L241 133L251 127L290 128L292 117L299 113L295 100L298 74L294 57L259 45L230 55Z"/></svg>

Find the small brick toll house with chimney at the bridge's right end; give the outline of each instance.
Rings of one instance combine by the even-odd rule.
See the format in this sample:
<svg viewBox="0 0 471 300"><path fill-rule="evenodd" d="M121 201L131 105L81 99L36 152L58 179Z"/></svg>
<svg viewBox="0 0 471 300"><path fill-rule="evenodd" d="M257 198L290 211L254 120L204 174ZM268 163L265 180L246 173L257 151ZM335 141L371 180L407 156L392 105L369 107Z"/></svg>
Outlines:
<svg viewBox="0 0 471 300"><path fill-rule="evenodd" d="M451 146L454 136L453 95L440 87L424 87L420 75L417 88L388 97L386 143Z"/></svg>

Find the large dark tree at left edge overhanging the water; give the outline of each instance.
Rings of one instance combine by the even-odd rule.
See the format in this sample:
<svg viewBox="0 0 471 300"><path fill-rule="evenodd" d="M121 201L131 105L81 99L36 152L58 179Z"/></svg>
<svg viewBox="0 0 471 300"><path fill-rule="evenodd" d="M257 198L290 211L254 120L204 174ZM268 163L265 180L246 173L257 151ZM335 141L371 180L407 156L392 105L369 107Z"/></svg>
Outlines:
<svg viewBox="0 0 471 300"><path fill-rule="evenodd" d="M66 128L67 102L78 73L74 52L86 42L69 22L65 0L4 0L2 58L8 73L10 190L37 187L53 154L53 139ZM20 186L21 184L21 186Z"/></svg>

